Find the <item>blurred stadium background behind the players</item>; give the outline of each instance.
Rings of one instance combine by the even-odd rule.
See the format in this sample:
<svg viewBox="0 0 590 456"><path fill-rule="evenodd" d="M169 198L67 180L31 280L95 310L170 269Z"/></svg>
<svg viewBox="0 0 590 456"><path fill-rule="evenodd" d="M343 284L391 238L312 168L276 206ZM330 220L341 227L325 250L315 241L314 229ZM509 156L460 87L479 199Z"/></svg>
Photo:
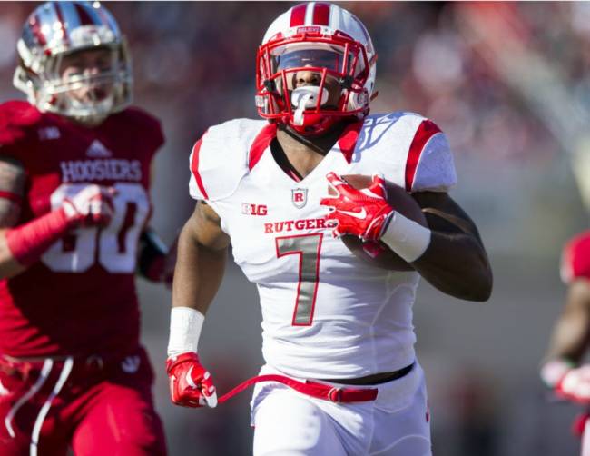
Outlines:
<svg viewBox="0 0 590 456"><path fill-rule="evenodd" d="M11 85L15 44L35 5L0 3L2 101L22 95ZM192 212L192 144L211 124L255 116L256 46L292 4L106 5L132 51L135 103L162 119L167 136L152 224L170 243ZM372 111L415 111L447 133L459 176L451 194L477 222L494 268L493 296L483 305L426 283L418 292L435 454L576 454L569 431L576 407L552 401L537 370L565 292L561 246L588 222L570 155L584 144L590 108L590 4L344 6L367 25L379 54ZM163 370L170 293L141 280L139 288L171 454L249 454L250 392L214 411L172 407ZM220 392L257 372L260 320L253 285L230 262L200 344Z"/></svg>

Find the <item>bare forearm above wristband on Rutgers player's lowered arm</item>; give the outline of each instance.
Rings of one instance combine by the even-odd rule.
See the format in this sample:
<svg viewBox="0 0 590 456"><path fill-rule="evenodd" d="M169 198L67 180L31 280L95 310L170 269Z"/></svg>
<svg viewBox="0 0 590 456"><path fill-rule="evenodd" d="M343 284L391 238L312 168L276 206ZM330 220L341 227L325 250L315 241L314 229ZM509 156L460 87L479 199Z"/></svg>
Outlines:
<svg viewBox="0 0 590 456"><path fill-rule="evenodd" d="M226 258L227 248L202 245L185 225L178 240L172 307L189 307L204 315L221 285Z"/></svg>

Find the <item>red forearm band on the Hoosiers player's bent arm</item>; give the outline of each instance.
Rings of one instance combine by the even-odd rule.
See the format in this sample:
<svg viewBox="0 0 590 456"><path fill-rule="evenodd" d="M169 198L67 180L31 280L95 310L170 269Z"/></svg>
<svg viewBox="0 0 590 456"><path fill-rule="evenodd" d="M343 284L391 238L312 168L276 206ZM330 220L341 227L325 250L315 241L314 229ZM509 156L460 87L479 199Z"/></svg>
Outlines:
<svg viewBox="0 0 590 456"><path fill-rule="evenodd" d="M70 228L64 209L6 231L6 243L18 263L30 266Z"/></svg>

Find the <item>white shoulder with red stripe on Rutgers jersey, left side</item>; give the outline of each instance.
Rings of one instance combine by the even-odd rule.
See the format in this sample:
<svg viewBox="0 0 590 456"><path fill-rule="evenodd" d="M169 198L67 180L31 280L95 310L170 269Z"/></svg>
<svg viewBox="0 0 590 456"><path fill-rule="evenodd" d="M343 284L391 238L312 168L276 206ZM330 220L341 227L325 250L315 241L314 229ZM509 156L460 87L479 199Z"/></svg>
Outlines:
<svg viewBox="0 0 590 456"><path fill-rule="evenodd" d="M251 146L266 125L264 120L234 119L209 128L189 159L192 198L216 201L230 196L249 172Z"/></svg>

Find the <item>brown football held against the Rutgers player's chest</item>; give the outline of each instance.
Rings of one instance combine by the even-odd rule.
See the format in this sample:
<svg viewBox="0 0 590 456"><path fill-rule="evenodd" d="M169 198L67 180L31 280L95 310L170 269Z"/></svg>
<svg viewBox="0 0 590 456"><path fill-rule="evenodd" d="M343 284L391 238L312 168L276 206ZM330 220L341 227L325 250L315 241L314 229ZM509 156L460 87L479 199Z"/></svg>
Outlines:
<svg viewBox="0 0 590 456"><path fill-rule="evenodd" d="M357 189L367 188L372 182L371 176L363 174L348 174L343 175L342 178ZM405 189L388 181L386 181L386 189L388 203L394 211L405 215L414 222L420 223L422 226L428 226L426 217L422 213L420 206ZM330 195L336 194L331 187L328 187L328 193ZM385 243L365 243L357 236L350 234L344 234L340 239L349 248L350 252L372 266L392 271L414 270L411 264L408 264L397 253L392 252Z"/></svg>

